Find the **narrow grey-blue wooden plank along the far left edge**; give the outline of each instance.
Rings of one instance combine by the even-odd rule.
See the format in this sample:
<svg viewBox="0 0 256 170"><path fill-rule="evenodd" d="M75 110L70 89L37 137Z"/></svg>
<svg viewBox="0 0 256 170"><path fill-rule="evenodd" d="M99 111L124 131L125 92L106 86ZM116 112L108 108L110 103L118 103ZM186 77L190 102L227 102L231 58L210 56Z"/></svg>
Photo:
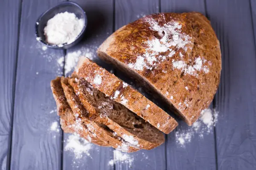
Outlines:
<svg viewBox="0 0 256 170"><path fill-rule="evenodd" d="M10 141L16 77L20 0L0 6L0 169L9 169Z"/></svg>

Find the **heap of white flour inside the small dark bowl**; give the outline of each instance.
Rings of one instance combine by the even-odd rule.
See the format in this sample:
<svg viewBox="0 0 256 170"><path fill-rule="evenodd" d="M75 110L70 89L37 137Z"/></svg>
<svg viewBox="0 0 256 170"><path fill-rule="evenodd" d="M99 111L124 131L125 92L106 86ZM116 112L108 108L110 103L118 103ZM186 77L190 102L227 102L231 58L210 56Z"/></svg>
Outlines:
<svg viewBox="0 0 256 170"><path fill-rule="evenodd" d="M48 20L44 34L49 44L63 46L74 42L83 28L83 19L78 19L74 13L64 12Z"/></svg>

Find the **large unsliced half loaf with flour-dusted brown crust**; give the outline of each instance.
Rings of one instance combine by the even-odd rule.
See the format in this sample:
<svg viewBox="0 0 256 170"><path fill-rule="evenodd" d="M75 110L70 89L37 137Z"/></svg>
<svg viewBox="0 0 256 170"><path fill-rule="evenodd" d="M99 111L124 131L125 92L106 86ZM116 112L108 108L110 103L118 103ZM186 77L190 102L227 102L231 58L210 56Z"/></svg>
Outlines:
<svg viewBox="0 0 256 170"><path fill-rule="evenodd" d="M157 92L188 125L210 105L220 81L219 41L197 12L129 23L100 45L98 55Z"/></svg>

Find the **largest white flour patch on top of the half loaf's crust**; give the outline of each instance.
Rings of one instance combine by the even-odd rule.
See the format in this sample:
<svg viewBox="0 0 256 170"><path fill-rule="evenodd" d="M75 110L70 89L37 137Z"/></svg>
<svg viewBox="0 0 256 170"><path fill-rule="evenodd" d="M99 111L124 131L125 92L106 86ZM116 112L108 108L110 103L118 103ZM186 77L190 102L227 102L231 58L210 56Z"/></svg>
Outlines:
<svg viewBox="0 0 256 170"><path fill-rule="evenodd" d="M182 26L174 20L163 26L150 16L145 17L142 20L145 20L151 31L156 33L150 40L144 42L147 46L145 53L137 56L135 62L128 63L129 68L138 71L142 71L144 68L153 70L154 68L157 68L157 65L159 65L160 62L175 55L175 48L177 48L176 51L179 51L180 49L186 51L186 45L192 44L190 41L191 37L183 33L181 31ZM164 55L163 52L165 53ZM174 65L176 68L181 69L184 67L185 63L183 61L175 61ZM165 73L165 70L163 70L163 72Z"/></svg>

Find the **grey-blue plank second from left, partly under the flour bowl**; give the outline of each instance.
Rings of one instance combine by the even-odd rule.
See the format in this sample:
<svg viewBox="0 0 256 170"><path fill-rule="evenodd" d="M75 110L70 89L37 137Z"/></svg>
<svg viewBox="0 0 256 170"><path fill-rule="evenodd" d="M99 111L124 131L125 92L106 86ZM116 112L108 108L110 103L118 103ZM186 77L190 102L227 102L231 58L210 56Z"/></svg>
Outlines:
<svg viewBox="0 0 256 170"><path fill-rule="evenodd" d="M23 0L12 132L12 170L61 169L61 131L49 130L59 122L50 81L58 74L63 51L42 50L35 37L35 21L61 0Z"/></svg>

